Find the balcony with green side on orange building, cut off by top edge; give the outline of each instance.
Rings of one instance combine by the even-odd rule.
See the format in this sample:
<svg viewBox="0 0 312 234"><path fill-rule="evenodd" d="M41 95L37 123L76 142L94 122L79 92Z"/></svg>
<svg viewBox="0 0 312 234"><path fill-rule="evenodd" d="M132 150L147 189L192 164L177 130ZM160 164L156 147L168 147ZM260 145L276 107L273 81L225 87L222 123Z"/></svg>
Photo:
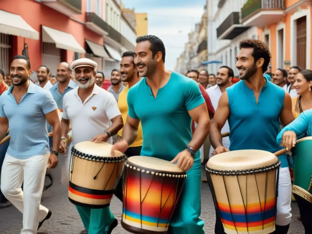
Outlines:
<svg viewBox="0 0 312 234"><path fill-rule="evenodd" d="M265 27L279 22L284 16L285 0L248 0L241 8L245 26Z"/></svg>

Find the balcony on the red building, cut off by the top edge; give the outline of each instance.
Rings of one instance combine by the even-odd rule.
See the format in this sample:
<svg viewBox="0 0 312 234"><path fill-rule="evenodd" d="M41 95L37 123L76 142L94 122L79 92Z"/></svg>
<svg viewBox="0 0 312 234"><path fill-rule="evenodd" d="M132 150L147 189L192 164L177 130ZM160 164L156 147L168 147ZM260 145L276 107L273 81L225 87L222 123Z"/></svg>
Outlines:
<svg viewBox="0 0 312 234"><path fill-rule="evenodd" d="M81 14L81 0L41 0L41 3L68 17Z"/></svg>

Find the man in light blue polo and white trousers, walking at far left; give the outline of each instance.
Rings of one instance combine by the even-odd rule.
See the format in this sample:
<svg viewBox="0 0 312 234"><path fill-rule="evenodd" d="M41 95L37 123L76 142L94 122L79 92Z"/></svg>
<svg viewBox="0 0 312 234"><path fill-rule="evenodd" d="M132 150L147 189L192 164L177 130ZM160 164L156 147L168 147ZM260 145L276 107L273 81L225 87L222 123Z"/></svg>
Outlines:
<svg viewBox="0 0 312 234"><path fill-rule="evenodd" d="M10 144L1 172L4 196L23 213L21 234L35 234L51 211L40 205L46 168L57 166L61 123L51 93L33 84L26 56L13 58L12 86L0 96L0 140L10 128ZM49 150L46 121L54 128ZM23 191L21 189L24 181Z"/></svg>

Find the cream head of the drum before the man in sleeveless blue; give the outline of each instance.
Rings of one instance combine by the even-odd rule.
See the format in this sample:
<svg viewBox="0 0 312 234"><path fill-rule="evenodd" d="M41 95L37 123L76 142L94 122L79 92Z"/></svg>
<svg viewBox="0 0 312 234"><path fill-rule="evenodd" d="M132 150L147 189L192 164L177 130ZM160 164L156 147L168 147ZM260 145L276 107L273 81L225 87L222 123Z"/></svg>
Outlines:
<svg viewBox="0 0 312 234"><path fill-rule="evenodd" d="M266 167L276 163L278 158L267 151L257 149L234 150L209 158L207 167L215 170L247 170Z"/></svg>

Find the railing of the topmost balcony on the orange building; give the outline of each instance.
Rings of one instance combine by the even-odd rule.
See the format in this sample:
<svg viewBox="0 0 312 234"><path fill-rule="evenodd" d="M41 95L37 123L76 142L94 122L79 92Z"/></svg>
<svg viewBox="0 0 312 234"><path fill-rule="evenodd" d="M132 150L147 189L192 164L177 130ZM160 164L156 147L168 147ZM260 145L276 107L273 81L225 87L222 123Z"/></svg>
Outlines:
<svg viewBox="0 0 312 234"><path fill-rule="evenodd" d="M285 9L285 0L248 0L241 8L241 18L244 21L261 10L276 9Z"/></svg>

